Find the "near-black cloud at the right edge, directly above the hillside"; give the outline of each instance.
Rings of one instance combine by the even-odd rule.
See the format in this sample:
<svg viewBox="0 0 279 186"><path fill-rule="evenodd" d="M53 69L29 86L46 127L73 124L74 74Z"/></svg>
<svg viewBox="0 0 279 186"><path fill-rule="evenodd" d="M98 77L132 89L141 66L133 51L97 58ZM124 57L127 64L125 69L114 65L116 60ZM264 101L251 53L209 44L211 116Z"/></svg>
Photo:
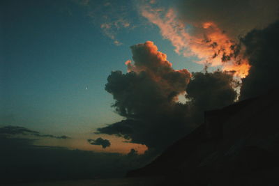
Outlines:
<svg viewBox="0 0 279 186"><path fill-rule="evenodd" d="M249 75L243 79L241 100L279 87L279 21L250 31L241 42L250 61Z"/></svg>

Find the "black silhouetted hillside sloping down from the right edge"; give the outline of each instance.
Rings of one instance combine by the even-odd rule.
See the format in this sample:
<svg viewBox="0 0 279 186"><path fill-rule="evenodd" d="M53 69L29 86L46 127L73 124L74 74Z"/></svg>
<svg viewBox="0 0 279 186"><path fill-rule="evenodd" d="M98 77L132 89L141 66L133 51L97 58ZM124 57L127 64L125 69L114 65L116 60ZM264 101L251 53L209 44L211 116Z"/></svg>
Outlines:
<svg viewBox="0 0 279 186"><path fill-rule="evenodd" d="M163 175L177 185L279 183L278 93L206 111L202 125L128 176Z"/></svg>

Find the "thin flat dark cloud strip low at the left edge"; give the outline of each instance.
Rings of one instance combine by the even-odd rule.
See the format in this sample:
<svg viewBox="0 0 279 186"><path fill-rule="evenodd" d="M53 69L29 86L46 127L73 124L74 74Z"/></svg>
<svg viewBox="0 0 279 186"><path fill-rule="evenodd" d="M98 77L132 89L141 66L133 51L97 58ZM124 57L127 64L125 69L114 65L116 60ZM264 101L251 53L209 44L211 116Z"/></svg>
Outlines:
<svg viewBox="0 0 279 186"><path fill-rule="evenodd" d="M31 135L35 137L50 137L56 139L69 139L70 137L67 136L54 136L52 134L41 134L40 132L29 130L25 127L19 126L4 126L0 128L0 135Z"/></svg>

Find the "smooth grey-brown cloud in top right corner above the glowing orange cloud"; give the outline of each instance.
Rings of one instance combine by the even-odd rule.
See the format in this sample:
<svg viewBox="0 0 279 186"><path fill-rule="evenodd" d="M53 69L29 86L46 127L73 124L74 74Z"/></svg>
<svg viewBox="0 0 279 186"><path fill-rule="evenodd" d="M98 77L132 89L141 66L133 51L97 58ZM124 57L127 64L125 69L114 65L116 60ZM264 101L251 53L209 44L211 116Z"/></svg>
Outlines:
<svg viewBox="0 0 279 186"><path fill-rule="evenodd" d="M262 29L279 16L277 0L181 0L177 8L183 22L193 25L215 22L235 38L251 29Z"/></svg>

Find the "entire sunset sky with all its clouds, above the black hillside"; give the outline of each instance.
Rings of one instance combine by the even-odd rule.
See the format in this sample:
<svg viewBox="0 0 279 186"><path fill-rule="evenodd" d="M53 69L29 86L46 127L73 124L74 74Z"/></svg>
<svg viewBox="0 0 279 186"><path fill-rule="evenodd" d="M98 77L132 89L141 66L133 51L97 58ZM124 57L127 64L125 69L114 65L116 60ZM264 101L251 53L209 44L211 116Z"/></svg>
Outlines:
<svg viewBox="0 0 279 186"><path fill-rule="evenodd" d="M31 165L33 151L57 153L54 166L108 160L94 169L103 177L117 161L121 173L142 166L204 111L278 87L278 10L276 0L1 1L1 145L21 146Z"/></svg>

